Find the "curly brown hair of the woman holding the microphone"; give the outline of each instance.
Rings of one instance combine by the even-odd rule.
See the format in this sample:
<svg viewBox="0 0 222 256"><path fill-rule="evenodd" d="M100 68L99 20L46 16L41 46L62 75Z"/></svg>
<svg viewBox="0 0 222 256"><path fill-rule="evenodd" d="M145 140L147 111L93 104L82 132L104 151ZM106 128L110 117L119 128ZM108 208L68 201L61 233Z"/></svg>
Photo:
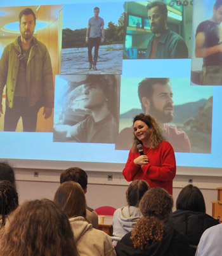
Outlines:
<svg viewBox="0 0 222 256"><path fill-rule="evenodd" d="M162 132L160 131L156 120L151 115L145 115L144 113L140 113L139 115L136 115L136 117L133 118L133 124L138 120L145 122L145 124L147 124L147 126L152 129L152 133L150 135L151 148L157 148L160 145L160 142L164 140L164 137L162 136ZM138 150L136 148L138 144L143 145L140 139L136 138L134 134L133 148L132 148L133 152L136 152Z"/></svg>

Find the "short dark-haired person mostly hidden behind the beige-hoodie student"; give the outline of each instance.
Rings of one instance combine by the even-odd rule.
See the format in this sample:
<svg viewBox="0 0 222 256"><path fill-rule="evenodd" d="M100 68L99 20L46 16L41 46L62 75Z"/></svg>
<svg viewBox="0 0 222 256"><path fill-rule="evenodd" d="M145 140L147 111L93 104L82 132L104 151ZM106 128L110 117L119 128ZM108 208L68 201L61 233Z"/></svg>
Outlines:
<svg viewBox="0 0 222 256"><path fill-rule="evenodd" d="M86 194L88 175L79 167L70 167L60 174L60 184L65 181L75 181L79 183ZM88 206L86 207L86 220L90 222L95 229L98 229L98 215L97 213Z"/></svg>

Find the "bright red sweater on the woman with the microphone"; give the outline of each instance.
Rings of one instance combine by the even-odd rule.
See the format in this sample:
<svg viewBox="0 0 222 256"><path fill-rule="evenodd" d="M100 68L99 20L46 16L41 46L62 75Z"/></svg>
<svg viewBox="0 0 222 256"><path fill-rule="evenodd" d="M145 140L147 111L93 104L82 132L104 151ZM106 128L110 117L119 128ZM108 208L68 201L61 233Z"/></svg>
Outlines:
<svg viewBox="0 0 222 256"><path fill-rule="evenodd" d="M143 146L143 152L147 152L148 148ZM143 167L134 164L133 160L140 156L140 153L132 150L129 151L129 157L126 166L122 171L127 181L145 180L151 188L164 188L173 194L173 179L176 175L176 159L173 147L167 141L162 141L158 148L151 148L147 153L149 162Z"/></svg>

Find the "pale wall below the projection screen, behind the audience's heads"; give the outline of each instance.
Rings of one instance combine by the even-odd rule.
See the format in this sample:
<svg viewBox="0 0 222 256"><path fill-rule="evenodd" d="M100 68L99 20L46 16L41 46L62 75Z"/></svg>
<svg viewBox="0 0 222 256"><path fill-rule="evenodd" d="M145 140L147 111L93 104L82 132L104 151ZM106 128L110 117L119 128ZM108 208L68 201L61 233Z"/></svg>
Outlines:
<svg viewBox="0 0 222 256"><path fill-rule="evenodd" d="M60 185L60 173L58 170L37 170L38 177L34 177L35 169L16 169L16 186L20 204L25 200L48 198L53 199L56 189ZM86 199L91 208L110 205L115 208L126 205L125 192L126 180L121 173L87 172L88 192ZM112 181L108 181L108 175L112 175ZM222 187L222 177L211 176L185 176L177 175L173 183L174 201L178 197L181 188L192 179L193 185L199 187L204 194L207 213L211 215L211 201L217 200L217 187Z"/></svg>

